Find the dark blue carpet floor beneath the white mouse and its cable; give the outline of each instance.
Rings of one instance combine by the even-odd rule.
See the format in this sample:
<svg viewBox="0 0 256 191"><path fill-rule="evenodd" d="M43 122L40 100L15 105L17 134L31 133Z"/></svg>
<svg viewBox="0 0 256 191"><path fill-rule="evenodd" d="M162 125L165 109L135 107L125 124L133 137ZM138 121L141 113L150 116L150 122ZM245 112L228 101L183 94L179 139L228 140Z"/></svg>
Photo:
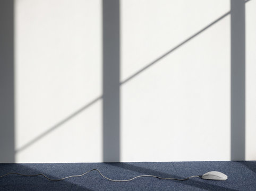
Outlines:
<svg viewBox="0 0 256 191"><path fill-rule="evenodd" d="M130 179L139 175L186 178L208 171L223 172L228 179L217 181L197 177L177 181L142 177L129 182L112 182L92 171L83 177L54 182L42 176L8 175L0 178L0 190L256 190L256 161L0 164L0 176L8 172L44 173L49 178L58 179L94 168L112 179Z"/></svg>

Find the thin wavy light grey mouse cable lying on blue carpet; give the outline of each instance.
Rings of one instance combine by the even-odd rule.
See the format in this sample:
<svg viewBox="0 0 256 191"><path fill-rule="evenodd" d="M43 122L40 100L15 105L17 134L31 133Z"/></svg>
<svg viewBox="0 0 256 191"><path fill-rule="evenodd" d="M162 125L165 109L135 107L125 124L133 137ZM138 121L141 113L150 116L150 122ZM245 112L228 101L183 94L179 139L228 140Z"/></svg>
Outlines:
<svg viewBox="0 0 256 191"><path fill-rule="evenodd" d="M127 180L113 180L113 179L110 179L110 178L107 178L105 177L98 169L92 169L92 170L89 170L87 172L84 172L82 173L81 175L72 175L72 176L68 176L68 177L64 177L64 178L61 178L61 179L51 179L51 178L48 178L47 176L45 176L43 173L39 173L37 175L23 175L21 173L16 173L16 172L10 172L10 173L6 173L5 175L2 175L0 176L0 178L4 177L4 176L7 176L7 175L21 175L21 176L44 176L46 179L48 180L52 180L52 181L60 181L60 180L64 180L64 179L67 179L67 178L71 178L71 177L81 177L83 175L86 175L87 173L93 171L93 170L96 170L100 173L100 175L104 178L106 178L107 180L110 180L110 181L118 181L118 182L121 182L121 181L131 181L131 180L134 180L135 178L140 178L140 177L155 177L155 178L159 178L159 179L164 179L164 180L187 180L187 179L190 179L190 178L193 178L193 177L201 177L200 175L196 175L196 176L190 176L188 178L184 178L184 179L178 179L178 178L162 178L162 177L158 177L158 176L154 176L154 175L140 175L140 176L136 176L134 178L131 178L131 179L127 179Z"/></svg>

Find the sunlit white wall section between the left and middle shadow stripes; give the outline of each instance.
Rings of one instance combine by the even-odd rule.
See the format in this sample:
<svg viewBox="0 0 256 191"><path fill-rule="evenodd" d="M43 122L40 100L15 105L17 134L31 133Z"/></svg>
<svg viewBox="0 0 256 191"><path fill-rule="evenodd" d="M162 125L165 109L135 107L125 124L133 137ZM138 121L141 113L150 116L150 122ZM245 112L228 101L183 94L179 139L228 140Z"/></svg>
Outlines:
<svg viewBox="0 0 256 191"><path fill-rule="evenodd" d="M101 161L100 100L58 125L101 95L100 1L16 1L15 61L16 162Z"/></svg>

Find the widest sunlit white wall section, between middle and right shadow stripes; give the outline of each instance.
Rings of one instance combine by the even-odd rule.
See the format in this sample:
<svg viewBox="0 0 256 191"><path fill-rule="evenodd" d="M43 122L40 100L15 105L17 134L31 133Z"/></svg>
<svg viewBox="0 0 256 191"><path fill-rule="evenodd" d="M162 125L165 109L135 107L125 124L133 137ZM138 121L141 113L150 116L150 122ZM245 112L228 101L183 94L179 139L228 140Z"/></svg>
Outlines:
<svg viewBox="0 0 256 191"><path fill-rule="evenodd" d="M123 1L121 81L228 11L229 1ZM228 15L123 84L122 160L229 160L229 31Z"/></svg>

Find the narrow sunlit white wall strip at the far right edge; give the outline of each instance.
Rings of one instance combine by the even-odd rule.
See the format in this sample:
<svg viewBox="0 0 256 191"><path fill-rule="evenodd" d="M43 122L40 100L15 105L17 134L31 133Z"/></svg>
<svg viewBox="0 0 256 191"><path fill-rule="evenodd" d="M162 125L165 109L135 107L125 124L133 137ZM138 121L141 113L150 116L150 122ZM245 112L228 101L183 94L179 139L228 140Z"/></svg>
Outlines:
<svg viewBox="0 0 256 191"><path fill-rule="evenodd" d="M245 5L245 37L246 37L246 130L245 158L256 160L256 1Z"/></svg>

